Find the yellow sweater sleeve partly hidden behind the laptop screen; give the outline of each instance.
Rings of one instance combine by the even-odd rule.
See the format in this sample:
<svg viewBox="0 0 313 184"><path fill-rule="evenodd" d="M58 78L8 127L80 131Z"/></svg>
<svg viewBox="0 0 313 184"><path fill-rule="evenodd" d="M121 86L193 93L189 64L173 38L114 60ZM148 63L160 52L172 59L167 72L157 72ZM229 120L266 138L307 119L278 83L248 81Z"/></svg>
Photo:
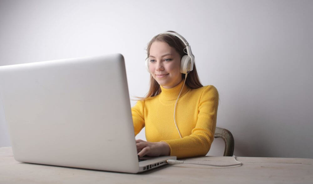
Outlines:
<svg viewBox="0 0 313 184"><path fill-rule="evenodd" d="M145 127L145 101L138 100L134 107L131 108L131 115L133 117L135 136Z"/></svg>

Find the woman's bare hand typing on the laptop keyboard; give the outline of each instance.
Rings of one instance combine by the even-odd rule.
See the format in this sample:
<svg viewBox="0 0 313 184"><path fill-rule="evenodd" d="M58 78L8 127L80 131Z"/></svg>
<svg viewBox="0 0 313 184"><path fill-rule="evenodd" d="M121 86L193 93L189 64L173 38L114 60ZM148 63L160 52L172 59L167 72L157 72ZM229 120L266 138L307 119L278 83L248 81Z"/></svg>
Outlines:
<svg viewBox="0 0 313 184"><path fill-rule="evenodd" d="M137 152L139 157L147 156L168 156L171 149L166 142L147 142L140 139L136 140Z"/></svg>

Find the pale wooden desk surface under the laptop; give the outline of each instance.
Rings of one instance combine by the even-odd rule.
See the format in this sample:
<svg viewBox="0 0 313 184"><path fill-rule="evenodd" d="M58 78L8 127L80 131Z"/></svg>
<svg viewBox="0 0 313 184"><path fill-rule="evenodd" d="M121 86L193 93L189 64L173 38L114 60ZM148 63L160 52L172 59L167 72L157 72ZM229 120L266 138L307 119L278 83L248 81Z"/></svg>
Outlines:
<svg viewBox="0 0 313 184"><path fill-rule="evenodd" d="M189 162L228 165L233 157L203 156ZM0 183L313 183L313 159L237 157L240 167L190 164L162 166L141 174L17 162L11 147L0 148Z"/></svg>

